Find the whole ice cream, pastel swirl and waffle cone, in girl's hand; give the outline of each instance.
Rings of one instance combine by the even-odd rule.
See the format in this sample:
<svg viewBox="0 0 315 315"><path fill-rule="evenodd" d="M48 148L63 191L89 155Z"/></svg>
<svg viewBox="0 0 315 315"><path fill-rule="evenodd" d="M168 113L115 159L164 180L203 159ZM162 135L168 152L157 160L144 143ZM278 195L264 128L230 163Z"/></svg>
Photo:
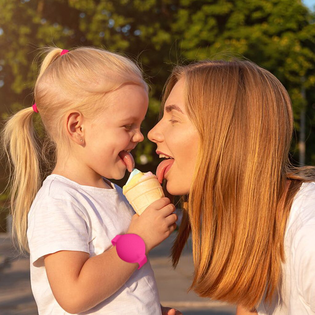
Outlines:
<svg viewBox="0 0 315 315"><path fill-rule="evenodd" d="M157 176L152 172L142 173L138 169L132 170L126 185L123 186L123 194L138 215L151 203L164 197Z"/></svg>

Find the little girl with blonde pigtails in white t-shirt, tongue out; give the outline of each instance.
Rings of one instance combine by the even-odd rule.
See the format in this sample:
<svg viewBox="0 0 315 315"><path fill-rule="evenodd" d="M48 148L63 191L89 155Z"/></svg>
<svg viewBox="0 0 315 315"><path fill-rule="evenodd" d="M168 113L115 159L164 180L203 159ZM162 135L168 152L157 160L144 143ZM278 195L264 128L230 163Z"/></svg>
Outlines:
<svg viewBox="0 0 315 315"><path fill-rule="evenodd" d="M106 179L121 179L134 167L129 152L143 140L147 92L141 71L123 56L49 48L35 104L5 125L3 145L14 164L13 231L30 253L39 315L175 314L159 303L149 260L137 270L138 263L121 259L111 243L117 235L137 234L147 255L176 227L168 198L138 216L122 189ZM41 187L48 152L39 153L35 112L47 135L43 148L53 148L55 157Z"/></svg>

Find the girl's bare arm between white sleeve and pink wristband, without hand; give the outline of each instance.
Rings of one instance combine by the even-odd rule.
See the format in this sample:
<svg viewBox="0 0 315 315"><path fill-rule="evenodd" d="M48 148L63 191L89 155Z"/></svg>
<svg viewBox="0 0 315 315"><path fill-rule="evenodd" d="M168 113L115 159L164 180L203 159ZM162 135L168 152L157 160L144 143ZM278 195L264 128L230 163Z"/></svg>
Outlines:
<svg viewBox="0 0 315 315"><path fill-rule="evenodd" d="M110 297L139 266L120 259L115 247L91 258L84 252L59 251L44 256L44 261L55 299L71 314L87 311Z"/></svg>

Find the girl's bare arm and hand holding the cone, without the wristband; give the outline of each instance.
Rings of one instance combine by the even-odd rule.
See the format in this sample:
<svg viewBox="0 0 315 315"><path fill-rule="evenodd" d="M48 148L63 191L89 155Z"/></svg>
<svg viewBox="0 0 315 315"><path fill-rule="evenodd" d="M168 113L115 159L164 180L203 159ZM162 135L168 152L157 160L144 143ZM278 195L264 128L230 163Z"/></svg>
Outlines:
<svg viewBox="0 0 315 315"><path fill-rule="evenodd" d="M127 233L139 235L146 255L175 230L177 215L168 198L150 205L140 216L134 215ZM113 295L138 268L119 258L116 246L89 258L82 251L60 250L44 256L49 285L59 305L68 313L89 310Z"/></svg>

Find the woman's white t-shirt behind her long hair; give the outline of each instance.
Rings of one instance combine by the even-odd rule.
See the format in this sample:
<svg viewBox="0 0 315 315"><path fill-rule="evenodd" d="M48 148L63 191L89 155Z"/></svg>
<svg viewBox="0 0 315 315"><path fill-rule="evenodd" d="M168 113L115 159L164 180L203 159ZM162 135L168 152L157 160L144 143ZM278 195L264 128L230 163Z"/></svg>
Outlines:
<svg viewBox="0 0 315 315"><path fill-rule="evenodd" d="M284 236L281 290L259 315L315 315L315 182L303 183L294 197Z"/></svg>

